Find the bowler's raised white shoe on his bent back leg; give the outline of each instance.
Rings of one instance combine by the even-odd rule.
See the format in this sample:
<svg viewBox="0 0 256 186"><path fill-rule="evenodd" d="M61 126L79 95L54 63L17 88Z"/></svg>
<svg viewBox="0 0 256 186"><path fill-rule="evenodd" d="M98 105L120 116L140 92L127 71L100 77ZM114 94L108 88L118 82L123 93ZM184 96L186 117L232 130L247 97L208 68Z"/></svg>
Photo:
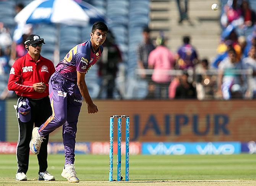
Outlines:
<svg viewBox="0 0 256 186"><path fill-rule="evenodd" d="M43 142L44 137L41 137L38 133L38 127L35 127L32 131L32 139L29 143L29 148L33 154L38 154L41 143Z"/></svg>

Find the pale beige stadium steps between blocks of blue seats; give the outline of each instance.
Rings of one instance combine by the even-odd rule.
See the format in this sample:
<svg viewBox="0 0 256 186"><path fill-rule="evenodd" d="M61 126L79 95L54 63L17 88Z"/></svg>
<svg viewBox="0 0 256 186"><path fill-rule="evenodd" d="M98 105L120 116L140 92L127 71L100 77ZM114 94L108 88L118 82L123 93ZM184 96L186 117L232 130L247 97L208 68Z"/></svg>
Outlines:
<svg viewBox="0 0 256 186"><path fill-rule="evenodd" d="M151 0L151 37L156 39L159 31L164 31L169 39L168 47L176 52L184 35L191 36L191 44L196 47L199 57L212 59L219 44L220 11L211 10L212 0L193 0L188 3L191 23L178 24L179 13L176 0Z"/></svg>

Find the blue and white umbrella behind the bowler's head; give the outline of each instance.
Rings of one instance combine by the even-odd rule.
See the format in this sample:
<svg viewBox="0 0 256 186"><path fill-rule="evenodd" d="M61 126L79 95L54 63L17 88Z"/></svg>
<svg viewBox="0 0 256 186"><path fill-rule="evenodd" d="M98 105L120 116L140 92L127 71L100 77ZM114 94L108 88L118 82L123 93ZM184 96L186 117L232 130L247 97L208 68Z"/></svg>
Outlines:
<svg viewBox="0 0 256 186"><path fill-rule="evenodd" d="M16 16L18 24L62 23L86 26L89 16L73 0L34 0Z"/></svg>

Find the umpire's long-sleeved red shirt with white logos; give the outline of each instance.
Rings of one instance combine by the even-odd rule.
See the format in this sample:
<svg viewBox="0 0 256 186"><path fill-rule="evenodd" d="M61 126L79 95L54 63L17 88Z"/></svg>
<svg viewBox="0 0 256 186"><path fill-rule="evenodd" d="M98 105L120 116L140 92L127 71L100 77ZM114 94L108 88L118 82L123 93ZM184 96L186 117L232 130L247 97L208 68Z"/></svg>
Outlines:
<svg viewBox="0 0 256 186"><path fill-rule="evenodd" d="M49 79L55 72L52 61L40 55L38 61L34 61L27 53L18 58L11 67L8 89L15 91L17 95L39 99L49 95ZM45 92L34 91L33 84L44 82L46 85Z"/></svg>

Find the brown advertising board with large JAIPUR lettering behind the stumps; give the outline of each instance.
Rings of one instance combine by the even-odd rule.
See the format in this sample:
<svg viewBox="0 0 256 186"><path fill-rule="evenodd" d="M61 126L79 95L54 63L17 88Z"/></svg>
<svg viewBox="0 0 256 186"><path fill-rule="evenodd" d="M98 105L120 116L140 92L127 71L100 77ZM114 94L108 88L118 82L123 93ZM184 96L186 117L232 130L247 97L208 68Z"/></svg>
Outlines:
<svg viewBox="0 0 256 186"><path fill-rule="evenodd" d="M13 105L6 101L6 141L17 141L18 124ZM84 102L76 141L109 141L109 117L130 116L131 141L251 141L256 140L256 100L95 100L99 112L87 113ZM122 122L125 139L125 119ZM117 134L115 119L115 134ZM117 139L117 135L114 136ZM62 128L50 134L62 141Z"/></svg>

